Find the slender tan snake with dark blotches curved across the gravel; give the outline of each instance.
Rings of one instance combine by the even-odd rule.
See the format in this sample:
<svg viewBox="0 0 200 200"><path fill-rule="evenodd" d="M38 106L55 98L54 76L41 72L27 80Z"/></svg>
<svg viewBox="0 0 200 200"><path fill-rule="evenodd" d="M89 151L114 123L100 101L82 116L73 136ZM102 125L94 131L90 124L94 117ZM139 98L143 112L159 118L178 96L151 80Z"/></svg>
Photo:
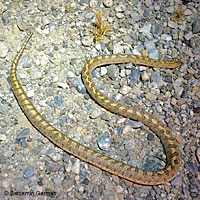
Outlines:
<svg viewBox="0 0 200 200"><path fill-rule="evenodd" d="M48 123L37 111L31 100L26 95L17 77L18 62L32 37L33 32L24 41L17 55L15 56L11 71L10 80L14 96L31 124L52 143L59 148L77 157L78 159L94 165L124 180L131 181L139 185L160 185L171 181L180 171L181 157L179 143L172 131L160 120L157 115L148 113L137 106L128 106L119 101L112 100L104 95L96 86L92 79L92 71L100 66L117 63L134 63L135 65L145 65L157 68L176 68L183 63L181 61L154 60L148 57L129 54L110 54L94 57L87 61L82 70L83 83L91 95L91 98L106 110L121 115L123 117L142 122L155 133L160 139L166 154L166 164L163 169L156 171L143 170L138 167L126 164L106 156L98 151L88 148L75 140L67 137L58 129Z"/></svg>

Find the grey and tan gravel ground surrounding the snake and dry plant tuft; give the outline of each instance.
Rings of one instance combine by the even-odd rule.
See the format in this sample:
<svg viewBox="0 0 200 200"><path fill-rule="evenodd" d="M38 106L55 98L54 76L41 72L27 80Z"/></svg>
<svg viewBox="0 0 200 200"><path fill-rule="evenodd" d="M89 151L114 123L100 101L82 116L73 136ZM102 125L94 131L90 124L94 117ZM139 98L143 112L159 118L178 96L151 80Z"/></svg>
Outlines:
<svg viewBox="0 0 200 200"><path fill-rule="evenodd" d="M112 32L95 44L97 9ZM1 0L0 199L200 199L199 13L198 0ZM33 30L18 76L38 111L74 140L146 170L165 165L159 139L143 124L98 106L81 70L90 58L113 53L184 62L174 70L128 63L93 73L104 94L158 113L172 129L182 157L176 178L159 186L133 184L64 152L32 127L9 73Z"/></svg>

